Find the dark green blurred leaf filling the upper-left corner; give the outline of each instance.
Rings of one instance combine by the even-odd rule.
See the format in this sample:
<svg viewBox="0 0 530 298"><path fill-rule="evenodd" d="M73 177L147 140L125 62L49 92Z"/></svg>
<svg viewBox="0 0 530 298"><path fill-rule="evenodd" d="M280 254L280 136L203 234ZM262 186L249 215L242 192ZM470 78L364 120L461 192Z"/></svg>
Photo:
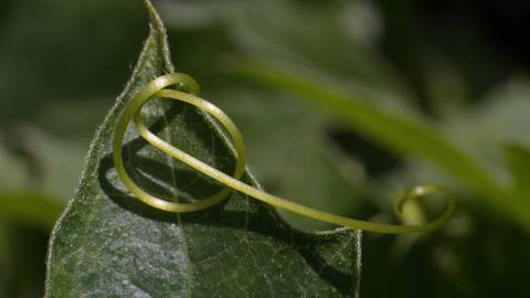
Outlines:
<svg viewBox="0 0 530 298"><path fill-rule="evenodd" d="M146 32L142 17L141 6L128 0L13 1L0 31L0 125L51 129L41 114L50 106L98 99L108 105ZM55 114L55 123L61 118ZM92 123L67 137L86 143L94 129Z"/></svg>

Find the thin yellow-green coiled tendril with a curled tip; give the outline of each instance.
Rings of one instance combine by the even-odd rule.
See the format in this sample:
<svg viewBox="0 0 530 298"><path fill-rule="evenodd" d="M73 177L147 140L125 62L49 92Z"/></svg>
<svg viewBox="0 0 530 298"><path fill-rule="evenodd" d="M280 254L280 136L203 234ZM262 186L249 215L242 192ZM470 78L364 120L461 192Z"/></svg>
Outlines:
<svg viewBox="0 0 530 298"><path fill-rule="evenodd" d="M171 85L177 85L183 87L189 93L168 89ZM125 187L139 200L142 202L160 210L168 212L193 212L221 203L226 199L231 191L235 190L242 192L248 196L255 198L259 201L263 201L269 205L273 205L278 209L284 209L293 213L297 213L317 221L344 226L353 230L363 230L378 233L392 233L392 234L404 234L404 233L418 233L418 232L430 232L437 230L445 225L445 223L452 217L455 210L455 201L451 193L446 190L434 187L434 185L422 185L415 187L404 194L398 204L398 211L401 212L403 205L413 200L427 194L441 194L446 200L446 206L442 215L436 220L421 225L394 225L394 224L384 224L384 223L374 223L367 221L353 220L350 217L339 216L336 214L322 212L315 210L305 205L294 203L292 201L278 198L276 195L266 193L259 189L256 189L252 185L248 185L242 182L240 179L243 177L245 171L245 147L243 143L243 138L234 125L234 123L226 116L220 108L213 104L198 97L200 93L199 85L197 82L189 75L182 73L173 73L165 76L160 76L155 81L146 85L128 104L125 108L121 118L119 119L113 142L113 158L114 164L118 177L124 182ZM194 157L183 152L182 150L169 145L165 140L160 139L158 136L149 131L149 129L141 121L141 107L153 98L170 98L174 100L184 102L197 106L199 109L209 113L212 115L221 125L224 126L229 132L236 153L236 164L235 170L231 175L225 174L224 172L219 171L218 169L195 159ZM123 156L121 156L121 143L124 140L127 126L132 120L137 132L146 139L150 145L157 149L170 155L171 157L180 160L181 162L188 164L189 167L202 172L203 174L221 182L224 188L216 194L206 198L201 201L195 201L191 203L177 203L170 202L160 198L157 198L138 187L127 174L127 171L124 167Z"/></svg>

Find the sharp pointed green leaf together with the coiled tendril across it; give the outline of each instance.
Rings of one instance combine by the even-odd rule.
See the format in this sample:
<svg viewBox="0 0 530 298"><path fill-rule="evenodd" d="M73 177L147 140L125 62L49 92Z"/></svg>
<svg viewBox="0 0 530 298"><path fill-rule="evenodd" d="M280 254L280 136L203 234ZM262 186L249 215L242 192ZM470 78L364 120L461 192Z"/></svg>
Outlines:
<svg viewBox="0 0 530 298"><path fill-rule="evenodd" d="M144 292L165 297L253 296L263 290L284 296L356 291L359 232L297 231L285 224L272 207L247 195L320 221L383 233L431 231L448 221L454 202L437 188L417 189L404 196L402 203L430 193L447 196L444 214L433 223L417 226L346 219L259 190L244 168L242 137L230 118L193 95L162 89L177 85L198 94L198 86L189 76L172 74L149 83L153 77L172 73L173 66L166 29L152 6L146 3L151 15L150 35L125 92L96 132L81 184L52 233L47 297L97 295L102 290L118 296ZM184 103L161 102L158 97L176 98L200 109ZM222 129L201 109L224 126L236 155ZM126 135L131 119L137 132ZM182 151L156 134L183 148ZM187 166L146 146L144 139ZM202 161L184 151L193 152ZM235 179L215 170L230 169L233 162ZM132 173L135 181L127 172ZM244 182L239 181L241 178ZM139 204L123 189L120 180L138 199L160 211ZM211 196L195 201L201 193ZM177 196L184 203L171 202ZM230 200L220 204L227 196ZM246 257L239 259L243 252ZM219 269L230 275L220 275Z"/></svg>

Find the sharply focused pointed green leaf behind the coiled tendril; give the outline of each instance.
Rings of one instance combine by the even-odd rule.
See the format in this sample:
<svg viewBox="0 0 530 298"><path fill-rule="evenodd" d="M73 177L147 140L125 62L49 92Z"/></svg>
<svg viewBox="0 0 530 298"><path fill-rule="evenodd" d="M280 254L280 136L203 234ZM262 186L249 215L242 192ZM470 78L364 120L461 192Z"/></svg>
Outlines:
<svg viewBox="0 0 530 298"><path fill-rule="evenodd" d="M166 33L146 1L151 30L125 92L96 132L81 184L51 237L46 297L353 296L360 233L305 233L241 193L190 214L153 210L127 194L112 163L121 110L151 79L173 72ZM234 156L221 129L190 106L155 100L144 118L171 143L223 171ZM147 146L130 131L128 171L147 190L195 200L220 185ZM245 175L245 182L258 187Z"/></svg>

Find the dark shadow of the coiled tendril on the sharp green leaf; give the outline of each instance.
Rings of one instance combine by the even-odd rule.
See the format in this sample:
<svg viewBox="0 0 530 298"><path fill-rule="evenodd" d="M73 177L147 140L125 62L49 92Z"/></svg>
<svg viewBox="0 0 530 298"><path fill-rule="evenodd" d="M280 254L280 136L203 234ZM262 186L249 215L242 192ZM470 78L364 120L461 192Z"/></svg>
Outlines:
<svg viewBox="0 0 530 298"><path fill-rule="evenodd" d="M193 113L184 113L184 109L186 106L171 105L166 111L166 118L161 117L157 119L150 126L150 130L153 134L162 131L166 125L179 115L186 115L184 120L187 123L204 121L203 116L195 110L193 110ZM211 128L204 125L202 127L208 129L199 131L198 135L201 136L203 146L208 147L215 140L212 138L213 134ZM216 136L216 138L219 143L223 142L219 136ZM127 171L131 174L131 179L145 188L146 191L162 198L171 198L173 193L177 192L179 198L192 201L194 198L205 198L222 189L222 187L212 179L201 175L186 166L178 164L172 168L169 167L167 162L141 156L140 151L146 148L146 146L149 145L144 139L136 138L123 147L124 161L128 168ZM212 153L216 157L233 156L225 146L215 146ZM233 158L231 158L231 160L233 160ZM120 207L150 220L174 224L181 223L184 228L191 225L200 225L205 228L224 227L264 236L267 241L273 241L282 247L297 252L319 278L336 288L340 294L344 296L353 295L357 277L351 274L351 272L357 272L354 268L354 266L357 266L354 262L357 257L354 252L357 249L350 249L352 254L347 256L346 267L331 264L333 256L343 253L335 251L338 251L340 247L349 247L344 245L344 242L349 241L351 242L350 245L353 245L356 237L353 231L318 236L297 231L285 224L279 215L271 207L236 192L232 192L230 198L222 204L204 211L178 214L156 210L121 191L120 188L117 187L120 183L118 182L118 178L108 177L108 173L113 169L113 157L112 155L107 155L99 162L98 180L105 194ZM248 177L245 177L244 180L247 183L252 183ZM180 182L183 185L187 184L186 192L182 188L172 190L171 187L177 188L174 182L177 182L177 185L180 184ZM337 249L328 249L326 253L319 253L319 247L322 246L336 246ZM332 253L329 251L332 251ZM346 251L348 252L348 249Z"/></svg>

